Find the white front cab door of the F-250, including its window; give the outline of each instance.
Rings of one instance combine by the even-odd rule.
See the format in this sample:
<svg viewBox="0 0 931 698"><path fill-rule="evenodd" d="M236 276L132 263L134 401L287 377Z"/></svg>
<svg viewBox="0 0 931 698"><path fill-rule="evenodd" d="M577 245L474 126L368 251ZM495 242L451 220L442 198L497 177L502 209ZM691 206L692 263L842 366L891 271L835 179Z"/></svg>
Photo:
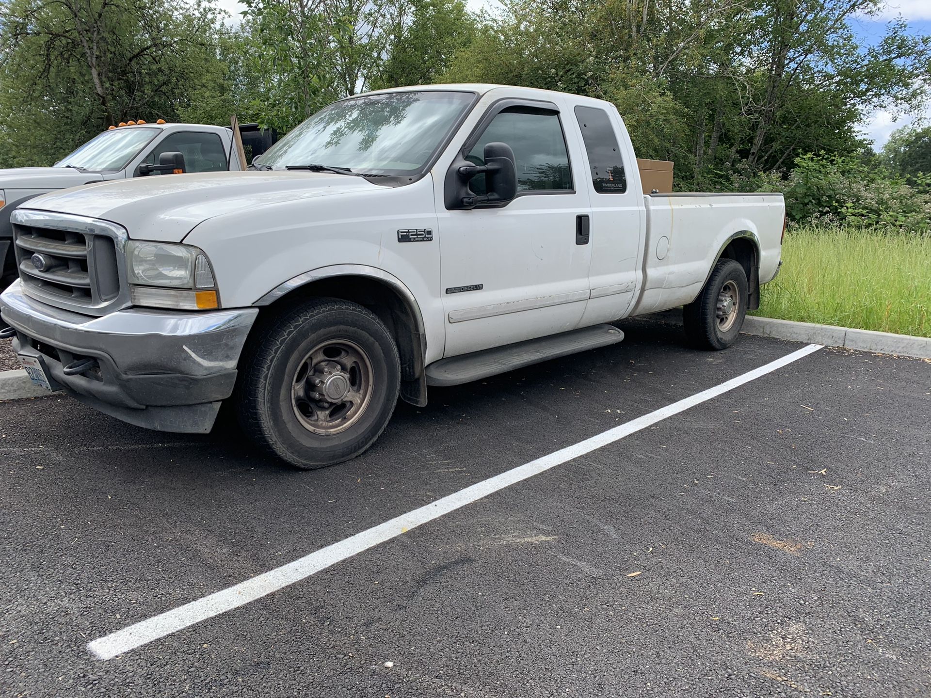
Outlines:
<svg viewBox="0 0 931 698"><path fill-rule="evenodd" d="M573 173L564 118L554 102L501 100L466 139L461 153L476 165L484 164L486 143L511 147L518 195L503 206L438 211L443 356L564 332L581 321L590 209ZM484 175L469 186L484 194Z"/></svg>

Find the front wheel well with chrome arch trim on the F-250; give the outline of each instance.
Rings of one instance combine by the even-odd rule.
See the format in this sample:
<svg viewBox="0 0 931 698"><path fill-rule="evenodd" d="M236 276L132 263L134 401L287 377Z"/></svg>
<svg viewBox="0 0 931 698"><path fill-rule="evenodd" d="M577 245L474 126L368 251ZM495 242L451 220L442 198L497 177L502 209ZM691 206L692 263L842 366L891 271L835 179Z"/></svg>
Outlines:
<svg viewBox="0 0 931 698"><path fill-rule="evenodd" d="M259 311L259 319L268 321L300 306L310 298L338 298L368 308L385 323L398 345L401 364L401 397L406 402L426 404L424 356L425 335L416 310L404 296L381 279L371 276L332 276L311 281L290 291Z"/></svg>

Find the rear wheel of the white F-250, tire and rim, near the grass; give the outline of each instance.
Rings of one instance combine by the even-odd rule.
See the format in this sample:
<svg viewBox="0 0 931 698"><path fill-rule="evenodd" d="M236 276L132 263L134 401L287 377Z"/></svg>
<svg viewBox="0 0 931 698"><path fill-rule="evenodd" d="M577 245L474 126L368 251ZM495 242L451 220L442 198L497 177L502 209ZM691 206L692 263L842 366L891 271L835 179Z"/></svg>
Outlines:
<svg viewBox="0 0 931 698"><path fill-rule="evenodd" d="M682 311L689 341L700 349L726 349L740 335L748 302L744 268L734 260L721 260L698 298Z"/></svg>

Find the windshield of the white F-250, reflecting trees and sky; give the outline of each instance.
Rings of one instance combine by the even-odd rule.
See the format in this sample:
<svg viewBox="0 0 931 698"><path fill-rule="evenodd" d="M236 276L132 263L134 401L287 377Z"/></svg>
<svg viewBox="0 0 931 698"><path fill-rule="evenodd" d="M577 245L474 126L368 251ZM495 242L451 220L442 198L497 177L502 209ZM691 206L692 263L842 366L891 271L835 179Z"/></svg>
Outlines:
<svg viewBox="0 0 931 698"><path fill-rule="evenodd" d="M475 99L471 92L387 92L337 101L294 128L256 165L349 168L354 173L418 172Z"/></svg>

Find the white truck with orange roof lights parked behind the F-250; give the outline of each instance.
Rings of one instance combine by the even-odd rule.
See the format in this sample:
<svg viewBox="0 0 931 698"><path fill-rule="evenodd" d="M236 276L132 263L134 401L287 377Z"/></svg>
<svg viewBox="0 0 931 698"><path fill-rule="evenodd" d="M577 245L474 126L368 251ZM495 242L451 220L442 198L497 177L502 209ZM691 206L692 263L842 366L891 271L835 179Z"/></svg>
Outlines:
<svg viewBox="0 0 931 698"><path fill-rule="evenodd" d="M257 124L242 125L240 131L254 153L274 140L273 131ZM157 166L165 154L182 154L187 172L240 170L239 159L230 157L232 145L231 128L167 124L159 119L154 124L111 127L50 168L0 169L0 289L17 275L9 217L18 205L81 184L161 174Z"/></svg>

